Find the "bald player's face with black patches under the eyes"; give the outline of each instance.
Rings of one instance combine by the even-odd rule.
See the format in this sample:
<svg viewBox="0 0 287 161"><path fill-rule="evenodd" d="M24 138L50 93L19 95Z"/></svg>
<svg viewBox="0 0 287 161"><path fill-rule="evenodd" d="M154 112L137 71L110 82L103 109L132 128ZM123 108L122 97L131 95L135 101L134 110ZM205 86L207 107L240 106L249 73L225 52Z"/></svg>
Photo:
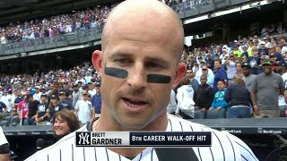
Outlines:
<svg viewBox="0 0 287 161"><path fill-rule="evenodd" d="M131 19L136 24L143 23ZM173 33L167 37L166 31L160 30L163 27L161 23L153 25L153 22L145 21L144 25L136 28L124 25L123 21L114 23L119 23L113 30L117 37L104 42L106 44L97 69L102 80L100 92L103 110L107 111L108 115L105 116L121 127L143 129L150 123L166 118L170 90L178 85L186 72L184 64L178 66L178 55L182 50L178 42L181 38ZM174 43L170 46L168 42L171 41ZM95 61L93 57L93 64L97 68ZM124 75L113 76L105 71L108 68L118 69ZM151 82L150 78L155 77L148 77L150 75L167 76L164 79L169 79L164 83Z"/></svg>

